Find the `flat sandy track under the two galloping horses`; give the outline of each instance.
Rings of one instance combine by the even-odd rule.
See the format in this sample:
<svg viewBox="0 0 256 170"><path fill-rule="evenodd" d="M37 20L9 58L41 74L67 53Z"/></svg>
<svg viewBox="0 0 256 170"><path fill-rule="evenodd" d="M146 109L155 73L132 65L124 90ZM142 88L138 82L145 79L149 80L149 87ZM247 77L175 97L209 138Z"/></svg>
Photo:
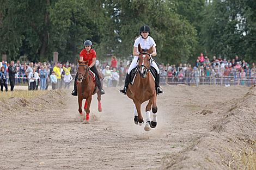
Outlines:
<svg viewBox="0 0 256 170"><path fill-rule="evenodd" d="M105 88L102 112L94 96L90 124L78 121L77 97L71 90L1 101L0 169L166 168L168 156L194 146L228 115L229 101L248 89L166 85L157 97L157 127L149 132L145 124L133 123L133 102L117 88Z"/></svg>

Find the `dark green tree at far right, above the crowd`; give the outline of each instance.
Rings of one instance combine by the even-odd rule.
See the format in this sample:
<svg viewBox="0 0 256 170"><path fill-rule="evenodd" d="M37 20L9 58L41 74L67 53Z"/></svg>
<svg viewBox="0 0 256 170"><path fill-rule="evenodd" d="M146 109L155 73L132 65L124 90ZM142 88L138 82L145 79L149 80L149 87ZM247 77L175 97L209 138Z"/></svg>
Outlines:
<svg viewBox="0 0 256 170"><path fill-rule="evenodd" d="M209 55L255 59L255 5L251 0L216 0L203 12L204 47Z"/></svg>

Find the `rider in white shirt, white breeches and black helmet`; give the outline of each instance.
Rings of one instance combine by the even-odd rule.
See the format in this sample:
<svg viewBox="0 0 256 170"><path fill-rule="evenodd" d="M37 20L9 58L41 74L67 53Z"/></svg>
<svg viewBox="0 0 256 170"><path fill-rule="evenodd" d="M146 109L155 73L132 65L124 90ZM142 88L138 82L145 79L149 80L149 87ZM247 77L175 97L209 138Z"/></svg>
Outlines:
<svg viewBox="0 0 256 170"><path fill-rule="evenodd" d="M144 52L147 52L148 49L153 46L153 52L151 53L151 56L156 56L156 43L155 43L154 39L151 36L149 36L149 34L150 34L149 26L147 26L147 25L142 26L141 29L139 30L139 32L140 32L141 36L139 36L135 40L135 43L133 45L133 55L135 57L131 62L129 70L127 71L124 88L119 90L124 95L126 94L126 91L128 89L128 86L129 86L129 74L130 74L130 72L133 68L137 67L137 60L138 60L138 56L139 56L138 44L141 45L141 48ZM161 93L163 93L163 91L160 89L160 86L159 86L160 72L159 72L159 68L157 67L155 61L151 62L151 67L154 67L157 71L156 92L157 92L157 94L161 94Z"/></svg>

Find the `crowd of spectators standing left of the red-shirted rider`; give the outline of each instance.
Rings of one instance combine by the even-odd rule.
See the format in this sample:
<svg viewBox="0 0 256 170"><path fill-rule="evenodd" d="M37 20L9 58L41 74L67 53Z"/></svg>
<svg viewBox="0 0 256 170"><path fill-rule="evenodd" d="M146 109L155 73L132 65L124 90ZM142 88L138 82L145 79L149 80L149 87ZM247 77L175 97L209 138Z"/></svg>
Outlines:
<svg viewBox="0 0 256 170"><path fill-rule="evenodd" d="M11 61L9 64L7 61L2 61L0 72L1 91L3 91L3 87L5 87L5 91L8 91L7 84L10 84L11 91L14 90L15 84L28 84L28 90L39 90L39 88L40 90L47 90L50 83L52 89L62 89L64 87L69 89L69 85L65 85L65 83L71 81L72 77L65 75L63 67L70 67L68 72L73 75L76 73L77 67L69 62L63 65L59 62L51 65L50 62L29 62L28 64L24 62L21 64L18 60L16 63ZM52 74L56 79L51 76Z"/></svg>

